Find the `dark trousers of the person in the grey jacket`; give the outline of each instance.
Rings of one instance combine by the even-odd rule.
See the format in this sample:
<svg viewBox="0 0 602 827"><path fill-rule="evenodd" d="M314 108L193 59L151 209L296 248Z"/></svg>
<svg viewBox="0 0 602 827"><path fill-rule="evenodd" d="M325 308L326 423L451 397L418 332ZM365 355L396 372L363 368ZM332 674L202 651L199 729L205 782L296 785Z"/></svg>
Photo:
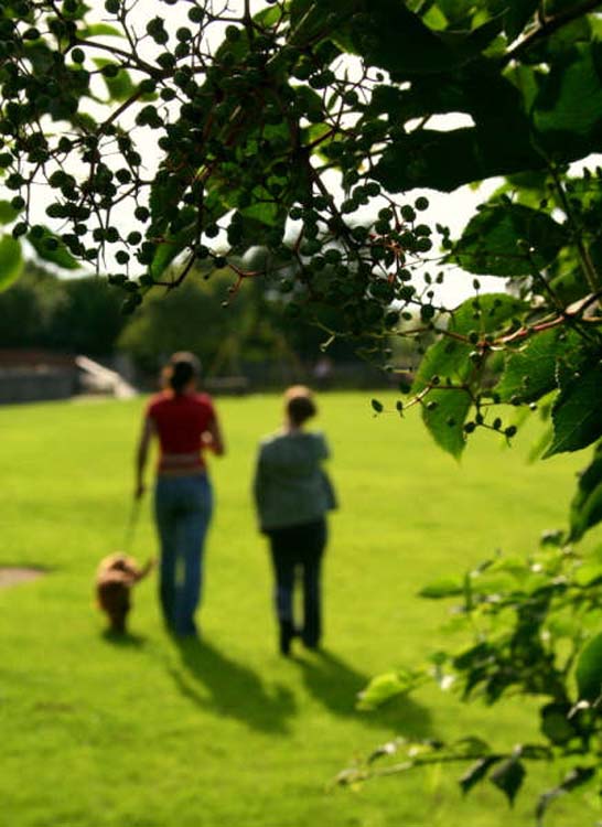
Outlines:
<svg viewBox="0 0 602 827"><path fill-rule="evenodd" d="M303 587L301 636L308 646L318 646L322 634L321 568L326 546L326 522L318 519L301 526L266 531L276 579L275 603L280 624L294 626L293 594L298 576Z"/></svg>

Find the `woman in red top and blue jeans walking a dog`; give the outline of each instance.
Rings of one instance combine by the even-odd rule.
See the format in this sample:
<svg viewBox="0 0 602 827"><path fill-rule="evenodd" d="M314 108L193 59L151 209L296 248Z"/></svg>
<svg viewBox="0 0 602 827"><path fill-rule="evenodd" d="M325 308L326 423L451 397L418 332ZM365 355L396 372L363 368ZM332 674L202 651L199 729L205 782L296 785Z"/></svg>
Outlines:
<svg viewBox="0 0 602 827"><path fill-rule="evenodd" d="M144 493L144 469L153 437L159 440L154 516L161 541L159 594L168 627L196 635L194 613L203 581L203 546L213 493L203 451L222 455L224 440L213 401L196 393L201 365L192 353L175 353L164 372L166 389L150 400L137 455L136 496Z"/></svg>

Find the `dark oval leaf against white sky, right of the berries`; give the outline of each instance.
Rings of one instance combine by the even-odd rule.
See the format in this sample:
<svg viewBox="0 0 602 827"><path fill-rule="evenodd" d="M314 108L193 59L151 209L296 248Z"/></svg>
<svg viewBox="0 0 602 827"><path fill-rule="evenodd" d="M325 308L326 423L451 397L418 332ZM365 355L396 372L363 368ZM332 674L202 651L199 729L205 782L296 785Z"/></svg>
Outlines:
<svg viewBox="0 0 602 827"><path fill-rule="evenodd" d="M527 243L530 255L518 243ZM568 241L549 215L523 204L491 205L469 222L453 258L474 273L527 276L544 269Z"/></svg>

